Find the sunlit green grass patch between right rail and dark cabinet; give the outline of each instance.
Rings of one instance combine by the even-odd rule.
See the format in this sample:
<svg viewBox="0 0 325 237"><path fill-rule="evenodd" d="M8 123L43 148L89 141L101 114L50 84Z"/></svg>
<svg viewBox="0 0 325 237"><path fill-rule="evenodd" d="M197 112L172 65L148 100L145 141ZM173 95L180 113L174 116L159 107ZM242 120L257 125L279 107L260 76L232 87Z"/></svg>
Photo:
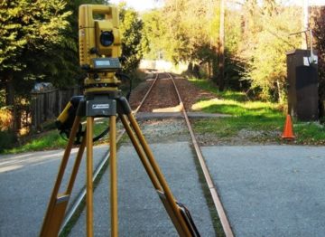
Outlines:
<svg viewBox="0 0 325 237"><path fill-rule="evenodd" d="M200 101L194 104L192 109L232 116L222 119L201 119L195 123L195 128L200 133L213 132L219 137L236 136L241 129L279 130L283 123L283 113L272 103L218 99Z"/></svg>

